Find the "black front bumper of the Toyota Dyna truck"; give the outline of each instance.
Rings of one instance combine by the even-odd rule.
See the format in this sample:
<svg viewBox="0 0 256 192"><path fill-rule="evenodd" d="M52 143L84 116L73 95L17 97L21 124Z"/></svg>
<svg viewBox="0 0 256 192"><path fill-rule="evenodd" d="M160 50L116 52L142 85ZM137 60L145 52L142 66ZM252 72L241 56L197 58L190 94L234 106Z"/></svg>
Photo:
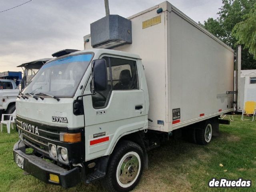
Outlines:
<svg viewBox="0 0 256 192"><path fill-rule="evenodd" d="M53 163L46 162L40 157L26 154L25 144L21 140L16 142L13 148L14 162L16 162L17 154L24 159L23 170L43 182L69 188L82 181L79 167L66 170ZM51 181L50 174L58 175L60 182Z"/></svg>

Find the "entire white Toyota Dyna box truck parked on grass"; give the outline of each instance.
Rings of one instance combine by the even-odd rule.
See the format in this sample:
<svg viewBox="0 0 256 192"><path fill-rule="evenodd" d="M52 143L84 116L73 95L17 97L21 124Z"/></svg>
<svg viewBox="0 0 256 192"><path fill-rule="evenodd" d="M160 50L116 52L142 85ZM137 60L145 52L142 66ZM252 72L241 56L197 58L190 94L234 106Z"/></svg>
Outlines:
<svg viewBox="0 0 256 192"><path fill-rule="evenodd" d="M173 132L206 145L228 124L234 51L169 2L106 16L84 43L54 53L16 101L14 161L36 178L127 192Z"/></svg>

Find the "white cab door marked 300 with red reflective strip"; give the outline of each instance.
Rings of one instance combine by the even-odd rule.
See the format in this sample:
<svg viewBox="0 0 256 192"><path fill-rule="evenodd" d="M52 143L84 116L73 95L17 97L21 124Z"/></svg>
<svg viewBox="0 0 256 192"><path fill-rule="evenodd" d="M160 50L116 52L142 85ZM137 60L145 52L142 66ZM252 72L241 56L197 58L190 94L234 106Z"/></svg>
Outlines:
<svg viewBox="0 0 256 192"><path fill-rule="evenodd" d="M83 98L86 160L110 154L119 137L146 123L138 61L108 55L101 58L107 63L107 89Z"/></svg>

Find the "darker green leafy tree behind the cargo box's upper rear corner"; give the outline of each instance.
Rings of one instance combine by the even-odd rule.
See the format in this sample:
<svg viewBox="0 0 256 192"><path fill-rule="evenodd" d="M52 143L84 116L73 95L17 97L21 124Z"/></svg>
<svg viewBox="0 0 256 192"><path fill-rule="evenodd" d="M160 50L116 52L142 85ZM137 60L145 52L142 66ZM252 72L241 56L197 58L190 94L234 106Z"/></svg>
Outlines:
<svg viewBox="0 0 256 192"><path fill-rule="evenodd" d="M217 13L219 17L217 19L208 18L201 25L236 50L239 40L232 30L236 24L245 20L244 16L250 13L255 3L256 0L222 0L223 6ZM256 69L256 60L244 43L242 43L242 69Z"/></svg>

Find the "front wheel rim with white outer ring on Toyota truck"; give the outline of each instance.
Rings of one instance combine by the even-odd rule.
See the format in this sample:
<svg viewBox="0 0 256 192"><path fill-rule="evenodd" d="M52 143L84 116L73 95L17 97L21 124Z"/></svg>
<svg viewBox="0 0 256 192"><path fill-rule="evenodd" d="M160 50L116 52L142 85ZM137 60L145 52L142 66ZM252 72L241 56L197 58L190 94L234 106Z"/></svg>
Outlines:
<svg viewBox="0 0 256 192"><path fill-rule="evenodd" d="M141 162L138 153L126 153L117 166L116 179L118 184L123 188L134 184L140 174L140 167Z"/></svg>

